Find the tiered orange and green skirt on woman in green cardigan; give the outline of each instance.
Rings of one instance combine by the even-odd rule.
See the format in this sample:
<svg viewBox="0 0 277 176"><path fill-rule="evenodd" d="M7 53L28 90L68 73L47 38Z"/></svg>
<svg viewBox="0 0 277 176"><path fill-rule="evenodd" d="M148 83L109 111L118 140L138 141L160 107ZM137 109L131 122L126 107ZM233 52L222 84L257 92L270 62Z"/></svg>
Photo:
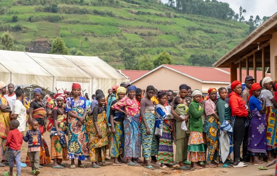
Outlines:
<svg viewBox="0 0 277 176"><path fill-rule="evenodd" d="M189 134L187 158L187 160L191 162L206 160L203 132L191 131Z"/></svg>

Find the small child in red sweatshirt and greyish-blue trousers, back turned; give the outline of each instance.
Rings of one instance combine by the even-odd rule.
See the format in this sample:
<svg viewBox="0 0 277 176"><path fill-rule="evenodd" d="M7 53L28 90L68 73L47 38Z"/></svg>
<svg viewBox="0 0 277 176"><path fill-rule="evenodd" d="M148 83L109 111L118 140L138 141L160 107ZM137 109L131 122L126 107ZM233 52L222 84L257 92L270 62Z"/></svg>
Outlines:
<svg viewBox="0 0 277 176"><path fill-rule="evenodd" d="M10 121L10 131L7 137L7 142L5 146L9 147L9 165L10 172L4 172L4 176L20 176L21 174L21 145L22 145L22 133L17 129L19 126L18 120ZM17 174L12 174L12 169L14 167L14 160L16 160Z"/></svg>

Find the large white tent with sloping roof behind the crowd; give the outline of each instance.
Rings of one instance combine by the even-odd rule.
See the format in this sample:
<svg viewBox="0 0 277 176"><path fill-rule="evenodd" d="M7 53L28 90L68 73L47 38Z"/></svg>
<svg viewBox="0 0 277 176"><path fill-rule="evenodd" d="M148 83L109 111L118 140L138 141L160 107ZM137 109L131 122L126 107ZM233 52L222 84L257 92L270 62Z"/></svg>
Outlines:
<svg viewBox="0 0 277 176"><path fill-rule="evenodd" d="M79 83L83 93L106 92L127 78L98 57L68 56L0 50L0 81L36 84L61 93Z"/></svg>

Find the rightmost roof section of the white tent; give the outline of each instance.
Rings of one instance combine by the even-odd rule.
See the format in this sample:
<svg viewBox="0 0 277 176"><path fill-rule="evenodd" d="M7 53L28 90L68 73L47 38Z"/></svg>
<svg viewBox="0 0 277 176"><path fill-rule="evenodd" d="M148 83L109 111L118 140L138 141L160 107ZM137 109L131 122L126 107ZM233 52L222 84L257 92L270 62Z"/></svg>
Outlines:
<svg viewBox="0 0 277 176"><path fill-rule="evenodd" d="M116 71L116 69L112 68L109 64L98 57L63 56L93 78L126 79L122 74Z"/></svg>

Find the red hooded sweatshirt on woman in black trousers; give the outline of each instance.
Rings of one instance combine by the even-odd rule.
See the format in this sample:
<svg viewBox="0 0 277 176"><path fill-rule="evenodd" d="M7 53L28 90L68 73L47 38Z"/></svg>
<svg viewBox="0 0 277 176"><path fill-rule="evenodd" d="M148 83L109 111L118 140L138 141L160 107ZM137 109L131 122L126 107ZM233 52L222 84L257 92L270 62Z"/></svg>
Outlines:
<svg viewBox="0 0 277 176"><path fill-rule="evenodd" d="M248 110L245 108L245 102L240 95L235 92L231 92L229 97L229 105L231 107L232 116L236 115L238 117L247 117Z"/></svg>

